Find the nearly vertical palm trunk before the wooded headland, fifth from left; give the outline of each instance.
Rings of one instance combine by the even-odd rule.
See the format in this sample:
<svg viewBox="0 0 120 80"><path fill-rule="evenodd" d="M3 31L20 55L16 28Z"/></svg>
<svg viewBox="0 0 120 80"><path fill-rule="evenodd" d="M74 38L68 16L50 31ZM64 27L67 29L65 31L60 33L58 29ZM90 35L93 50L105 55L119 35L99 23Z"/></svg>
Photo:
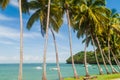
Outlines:
<svg viewBox="0 0 120 80"><path fill-rule="evenodd" d="M86 54L86 48L87 48L87 34L86 34L86 42L85 42L85 48L84 48L84 65L85 65L85 71L86 71L86 77L89 77L89 71L88 71L88 64L87 64L87 54Z"/></svg>

